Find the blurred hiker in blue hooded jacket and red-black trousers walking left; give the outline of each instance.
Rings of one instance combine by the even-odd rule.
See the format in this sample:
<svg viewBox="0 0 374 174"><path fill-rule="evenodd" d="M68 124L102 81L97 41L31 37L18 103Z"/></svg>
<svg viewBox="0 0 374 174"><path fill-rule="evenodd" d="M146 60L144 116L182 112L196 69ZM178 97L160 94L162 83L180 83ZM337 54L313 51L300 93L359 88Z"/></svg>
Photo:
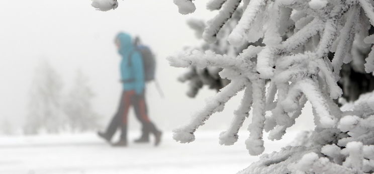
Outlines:
<svg viewBox="0 0 374 174"><path fill-rule="evenodd" d="M149 60L145 60L146 58L149 59L149 56L144 54L142 50L144 48L138 47L138 45L132 43L129 34L118 34L115 43L118 47L119 54L122 56L121 81L123 83L123 92L116 115L113 117L107 130L105 132L98 132L98 135L110 142L116 130L120 128L120 140L113 145L127 146L127 117L129 108L132 105L134 106L136 118L142 124L142 135L134 142L149 142L149 134L151 133L155 136L154 145L157 146L160 143L162 133L149 120L144 98L145 81L154 78L154 66L149 67L149 69L153 71L151 75L149 75L149 69L144 69L144 65L149 64ZM150 50L148 49L145 52L150 52ZM148 68L147 66L145 67Z"/></svg>

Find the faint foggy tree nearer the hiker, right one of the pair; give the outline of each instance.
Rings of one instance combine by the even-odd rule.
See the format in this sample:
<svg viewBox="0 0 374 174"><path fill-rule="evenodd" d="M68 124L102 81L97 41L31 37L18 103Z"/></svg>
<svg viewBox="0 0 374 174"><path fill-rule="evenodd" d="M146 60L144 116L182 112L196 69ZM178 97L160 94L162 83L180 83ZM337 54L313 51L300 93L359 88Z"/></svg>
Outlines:
<svg viewBox="0 0 374 174"><path fill-rule="evenodd" d="M74 132L95 130L99 127L99 115L92 108L93 94L88 77L77 71L73 86L65 98L63 110L69 129Z"/></svg>

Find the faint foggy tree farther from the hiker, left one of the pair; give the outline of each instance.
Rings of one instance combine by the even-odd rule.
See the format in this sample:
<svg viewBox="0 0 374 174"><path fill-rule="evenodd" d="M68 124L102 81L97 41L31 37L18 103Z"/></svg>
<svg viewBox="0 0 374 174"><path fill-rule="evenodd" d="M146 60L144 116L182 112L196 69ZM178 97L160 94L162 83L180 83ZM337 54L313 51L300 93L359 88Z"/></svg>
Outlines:
<svg viewBox="0 0 374 174"><path fill-rule="evenodd" d="M49 62L43 61L36 67L24 125L26 134L58 133L65 128L67 119L62 112L62 85L61 76Z"/></svg>

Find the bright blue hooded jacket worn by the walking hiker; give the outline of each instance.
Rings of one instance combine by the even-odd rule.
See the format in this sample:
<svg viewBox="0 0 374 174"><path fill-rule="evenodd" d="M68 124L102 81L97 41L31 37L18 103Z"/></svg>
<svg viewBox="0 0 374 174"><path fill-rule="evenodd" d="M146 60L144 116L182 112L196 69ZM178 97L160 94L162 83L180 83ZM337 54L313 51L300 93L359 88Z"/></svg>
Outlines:
<svg viewBox="0 0 374 174"><path fill-rule="evenodd" d="M123 90L135 90L136 94L140 95L143 93L145 86L144 65L141 54L132 44L129 34L119 33L117 39L120 43L118 52L122 56L121 78L123 81Z"/></svg>

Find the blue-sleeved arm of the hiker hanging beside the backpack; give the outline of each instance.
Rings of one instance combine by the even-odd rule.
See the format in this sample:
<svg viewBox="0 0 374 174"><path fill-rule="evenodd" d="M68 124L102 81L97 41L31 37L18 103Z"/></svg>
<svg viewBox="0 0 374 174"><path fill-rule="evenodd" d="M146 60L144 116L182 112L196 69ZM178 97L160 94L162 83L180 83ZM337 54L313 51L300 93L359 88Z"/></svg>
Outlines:
<svg viewBox="0 0 374 174"><path fill-rule="evenodd" d="M135 76L135 92L141 95L144 91L145 79L144 79L144 65L141 54L134 52L131 56L132 66L134 69Z"/></svg>

